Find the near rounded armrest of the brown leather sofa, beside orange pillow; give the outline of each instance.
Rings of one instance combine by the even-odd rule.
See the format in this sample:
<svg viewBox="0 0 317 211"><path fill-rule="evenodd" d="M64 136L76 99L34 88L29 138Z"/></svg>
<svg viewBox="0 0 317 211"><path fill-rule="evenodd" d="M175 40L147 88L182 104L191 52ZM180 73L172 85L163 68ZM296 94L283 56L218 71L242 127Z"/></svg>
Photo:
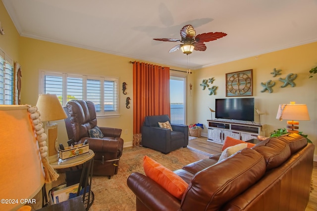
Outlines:
<svg viewBox="0 0 317 211"><path fill-rule="evenodd" d="M149 210L178 211L180 201L158 183L144 174L134 172L127 179L127 185Z"/></svg>

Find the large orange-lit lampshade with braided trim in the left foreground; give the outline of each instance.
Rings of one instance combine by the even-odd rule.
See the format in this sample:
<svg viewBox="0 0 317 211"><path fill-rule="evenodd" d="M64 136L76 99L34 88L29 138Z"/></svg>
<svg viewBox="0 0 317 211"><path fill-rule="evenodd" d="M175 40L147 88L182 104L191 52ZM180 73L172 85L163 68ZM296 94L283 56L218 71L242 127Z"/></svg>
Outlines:
<svg viewBox="0 0 317 211"><path fill-rule="evenodd" d="M14 211L41 190L45 173L28 107L0 105L0 117L0 199L18 200L0 210Z"/></svg>

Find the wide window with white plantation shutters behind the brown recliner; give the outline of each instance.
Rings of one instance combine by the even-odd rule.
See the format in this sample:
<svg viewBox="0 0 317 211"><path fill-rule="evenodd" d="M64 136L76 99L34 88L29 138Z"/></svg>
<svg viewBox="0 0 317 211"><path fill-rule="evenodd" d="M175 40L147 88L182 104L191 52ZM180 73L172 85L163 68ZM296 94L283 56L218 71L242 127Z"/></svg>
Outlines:
<svg viewBox="0 0 317 211"><path fill-rule="evenodd" d="M40 93L56 94L65 106L72 99L95 104L97 116L118 115L118 79L40 71Z"/></svg>

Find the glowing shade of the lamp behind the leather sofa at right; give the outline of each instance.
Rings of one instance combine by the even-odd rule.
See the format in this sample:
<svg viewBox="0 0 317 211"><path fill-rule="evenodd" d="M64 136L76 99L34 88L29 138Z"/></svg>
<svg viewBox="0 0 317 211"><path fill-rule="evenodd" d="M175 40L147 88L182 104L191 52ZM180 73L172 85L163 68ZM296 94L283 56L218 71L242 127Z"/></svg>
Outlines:
<svg viewBox="0 0 317 211"><path fill-rule="evenodd" d="M278 107L276 119L279 120L297 120L308 121L311 120L308 114L306 104L280 104Z"/></svg>

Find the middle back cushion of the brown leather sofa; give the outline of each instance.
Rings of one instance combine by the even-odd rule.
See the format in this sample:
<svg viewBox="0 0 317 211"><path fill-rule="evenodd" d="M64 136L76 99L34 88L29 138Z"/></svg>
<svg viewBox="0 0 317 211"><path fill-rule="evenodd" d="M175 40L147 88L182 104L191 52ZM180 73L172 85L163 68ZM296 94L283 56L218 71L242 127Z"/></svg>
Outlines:
<svg viewBox="0 0 317 211"><path fill-rule="evenodd" d="M291 156L289 145L273 137L261 141L252 149L264 156L266 170L280 166Z"/></svg>

